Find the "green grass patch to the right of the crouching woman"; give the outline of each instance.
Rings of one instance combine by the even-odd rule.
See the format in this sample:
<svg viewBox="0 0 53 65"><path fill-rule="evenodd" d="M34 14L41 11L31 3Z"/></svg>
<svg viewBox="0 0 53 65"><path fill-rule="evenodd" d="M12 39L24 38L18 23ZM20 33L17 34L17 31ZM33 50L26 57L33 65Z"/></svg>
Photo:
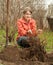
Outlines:
<svg viewBox="0 0 53 65"><path fill-rule="evenodd" d="M39 35L40 39L45 39L45 49L47 52L53 51L53 32L51 31L44 31L41 35Z"/></svg>

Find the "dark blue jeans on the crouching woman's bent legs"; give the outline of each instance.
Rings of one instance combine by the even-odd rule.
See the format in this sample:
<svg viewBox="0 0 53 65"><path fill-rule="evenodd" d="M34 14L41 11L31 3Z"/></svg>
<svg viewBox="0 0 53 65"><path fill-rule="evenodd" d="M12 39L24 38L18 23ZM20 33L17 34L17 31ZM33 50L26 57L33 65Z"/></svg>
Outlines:
<svg viewBox="0 0 53 65"><path fill-rule="evenodd" d="M17 40L17 44L21 47L24 48L28 48L30 47L29 43L27 42L27 36L21 36L18 40Z"/></svg>

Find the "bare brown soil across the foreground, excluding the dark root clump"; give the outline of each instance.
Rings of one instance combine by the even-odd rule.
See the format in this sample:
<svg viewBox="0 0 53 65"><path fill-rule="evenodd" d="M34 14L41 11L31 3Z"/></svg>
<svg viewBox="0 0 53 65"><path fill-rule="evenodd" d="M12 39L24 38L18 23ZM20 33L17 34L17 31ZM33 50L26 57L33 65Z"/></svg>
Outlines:
<svg viewBox="0 0 53 65"><path fill-rule="evenodd" d="M47 54L47 61L41 62L38 59L29 60L20 57L20 52L25 50L18 49L17 46L7 46L0 52L0 63L4 65L53 65L53 53ZM23 54L21 55L24 56Z"/></svg>

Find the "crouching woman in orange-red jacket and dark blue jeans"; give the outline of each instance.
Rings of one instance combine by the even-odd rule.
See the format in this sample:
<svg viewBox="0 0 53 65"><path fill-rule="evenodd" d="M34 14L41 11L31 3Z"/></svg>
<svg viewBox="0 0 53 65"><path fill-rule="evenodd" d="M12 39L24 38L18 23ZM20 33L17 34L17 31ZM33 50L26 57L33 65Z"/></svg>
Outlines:
<svg viewBox="0 0 53 65"><path fill-rule="evenodd" d="M17 21L17 44L28 48L30 45L27 42L29 36L37 36L42 30L37 30L36 21L32 18L32 11L30 7L26 7L23 11L23 17Z"/></svg>

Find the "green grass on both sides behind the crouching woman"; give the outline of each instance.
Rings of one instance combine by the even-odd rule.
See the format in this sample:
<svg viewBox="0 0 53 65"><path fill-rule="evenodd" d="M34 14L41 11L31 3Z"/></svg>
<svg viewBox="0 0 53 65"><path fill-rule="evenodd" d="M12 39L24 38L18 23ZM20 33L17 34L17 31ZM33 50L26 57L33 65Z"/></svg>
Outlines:
<svg viewBox="0 0 53 65"><path fill-rule="evenodd" d="M5 34L6 33L5 33L4 30L0 30L0 43L5 44L5 38L3 37ZM16 36L17 36L17 33L15 34L15 43L16 43ZM46 40L46 44L45 44L46 51L47 52L53 51L53 32L51 32L51 31L44 31L42 34L39 35L39 37L40 37L41 41L43 39ZM0 49L1 49L1 46L0 46Z"/></svg>

